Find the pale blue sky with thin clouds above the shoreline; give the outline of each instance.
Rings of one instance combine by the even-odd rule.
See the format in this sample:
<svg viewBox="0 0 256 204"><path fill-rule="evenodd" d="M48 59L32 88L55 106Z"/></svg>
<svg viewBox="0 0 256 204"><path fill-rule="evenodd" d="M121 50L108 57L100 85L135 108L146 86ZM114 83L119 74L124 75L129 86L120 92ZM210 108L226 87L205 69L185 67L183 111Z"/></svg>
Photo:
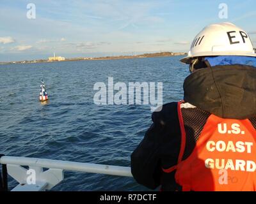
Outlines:
<svg viewBox="0 0 256 204"><path fill-rule="evenodd" d="M26 17L27 4L36 18ZM219 4L228 19L219 18ZM229 21L256 46L256 1L0 1L0 61L188 51L205 25Z"/></svg>

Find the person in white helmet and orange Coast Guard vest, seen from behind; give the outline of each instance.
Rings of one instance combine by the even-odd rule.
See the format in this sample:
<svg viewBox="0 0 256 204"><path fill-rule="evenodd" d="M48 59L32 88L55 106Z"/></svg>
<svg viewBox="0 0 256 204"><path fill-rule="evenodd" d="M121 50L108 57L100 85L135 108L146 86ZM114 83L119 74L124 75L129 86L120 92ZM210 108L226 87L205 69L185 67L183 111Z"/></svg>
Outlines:
<svg viewBox="0 0 256 204"><path fill-rule="evenodd" d="M163 105L132 152L131 171L162 191L256 190L256 54L248 33L205 27L188 56L184 101Z"/></svg>

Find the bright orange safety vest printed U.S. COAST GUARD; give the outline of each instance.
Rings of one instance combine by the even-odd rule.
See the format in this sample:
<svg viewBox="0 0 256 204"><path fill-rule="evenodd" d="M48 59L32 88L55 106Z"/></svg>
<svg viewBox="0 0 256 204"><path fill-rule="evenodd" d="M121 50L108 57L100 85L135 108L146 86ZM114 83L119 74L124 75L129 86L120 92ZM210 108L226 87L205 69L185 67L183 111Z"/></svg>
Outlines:
<svg viewBox="0 0 256 204"><path fill-rule="evenodd" d="M175 181L182 191L256 191L256 130L250 120L210 115L191 155L182 160L186 131L180 104L181 146ZM196 121L195 121L196 122Z"/></svg>

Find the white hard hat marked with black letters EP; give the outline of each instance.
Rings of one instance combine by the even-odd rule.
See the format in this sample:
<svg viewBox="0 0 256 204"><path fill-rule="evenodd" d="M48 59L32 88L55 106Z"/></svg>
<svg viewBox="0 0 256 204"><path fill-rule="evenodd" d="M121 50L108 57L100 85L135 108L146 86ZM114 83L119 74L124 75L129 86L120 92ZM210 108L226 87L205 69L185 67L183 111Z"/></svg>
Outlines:
<svg viewBox="0 0 256 204"><path fill-rule="evenodd" d="M223 22L205 27L195 37L188 56L180 61L190 64L193 57L218 55L256 57L249 35L236 25Z"/></svg>

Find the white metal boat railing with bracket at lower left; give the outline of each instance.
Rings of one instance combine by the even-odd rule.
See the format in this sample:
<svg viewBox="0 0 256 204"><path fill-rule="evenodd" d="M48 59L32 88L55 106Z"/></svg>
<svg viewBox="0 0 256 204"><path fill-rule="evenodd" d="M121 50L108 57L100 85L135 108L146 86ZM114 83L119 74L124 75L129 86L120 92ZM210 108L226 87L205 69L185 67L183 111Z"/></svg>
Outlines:
<svg viewBox="0 0 256 204"><path fill-rule="evenodd" d="M64 170L132 177L131 168L125 166L12 156L2 156L0 163L6 164L8 175L19 182L12 191L49 190L64 179ZM44 168L49 169L44 171Z"/></svg>

